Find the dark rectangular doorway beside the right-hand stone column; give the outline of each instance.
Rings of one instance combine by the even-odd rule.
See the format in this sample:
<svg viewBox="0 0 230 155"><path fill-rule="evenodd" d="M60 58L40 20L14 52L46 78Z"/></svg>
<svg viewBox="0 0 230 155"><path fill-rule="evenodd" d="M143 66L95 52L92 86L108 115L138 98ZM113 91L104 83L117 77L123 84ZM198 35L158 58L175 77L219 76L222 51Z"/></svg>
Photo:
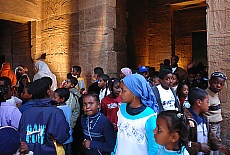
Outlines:
<svg viewBox="0 0 230 155"><path fill-rule="evenodd" d="M192 32L192 60L208 65L206 31Z"/></svg>

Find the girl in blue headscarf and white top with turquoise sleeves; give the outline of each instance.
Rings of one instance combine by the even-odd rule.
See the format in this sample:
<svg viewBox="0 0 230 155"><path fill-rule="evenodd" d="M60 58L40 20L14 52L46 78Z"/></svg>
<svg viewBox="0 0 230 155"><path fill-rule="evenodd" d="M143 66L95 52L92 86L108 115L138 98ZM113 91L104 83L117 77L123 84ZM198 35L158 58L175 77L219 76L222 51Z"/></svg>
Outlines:
<svg viewBox="0 0 230 155"><path fill-rule="evenodd" d="M146 79L131 74L122 79L122 104L117 113L118 133L116 155L156 154L158 144L153 130L156 128L158 105Z"/></svg>

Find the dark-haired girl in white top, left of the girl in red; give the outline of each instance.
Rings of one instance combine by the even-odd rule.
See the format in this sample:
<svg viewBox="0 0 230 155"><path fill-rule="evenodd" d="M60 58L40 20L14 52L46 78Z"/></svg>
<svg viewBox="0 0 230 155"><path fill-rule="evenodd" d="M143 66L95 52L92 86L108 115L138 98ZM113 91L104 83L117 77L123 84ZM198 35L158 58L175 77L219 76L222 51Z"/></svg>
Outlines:
<svg viewBox="0 0 230 155"><path fill-rule="evenodd" d="M98 87L101 89L99 94L100 102L101 100L110 94L109 91L110 79L107 74L99 75Z"/></svg>

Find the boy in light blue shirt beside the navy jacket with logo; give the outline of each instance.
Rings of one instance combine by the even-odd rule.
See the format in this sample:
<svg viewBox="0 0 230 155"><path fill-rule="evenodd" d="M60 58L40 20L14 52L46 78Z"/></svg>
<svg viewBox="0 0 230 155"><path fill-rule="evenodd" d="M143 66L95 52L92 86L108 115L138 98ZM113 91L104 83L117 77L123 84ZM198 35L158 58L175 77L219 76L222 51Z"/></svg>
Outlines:
<svg viewBox="0 0 230 155"><path fill-rule="evenodd" d="M70 92L67 88L58 88L54 91L54 100L56 101L56 106L63 111L66 121L70 126L72 111L70 107L65 103L69 99L69 94ZM65 143L63 143L66 155L71 155L71 143L73 142L72 132L73 131L70 128L70 138Z"/></svg>

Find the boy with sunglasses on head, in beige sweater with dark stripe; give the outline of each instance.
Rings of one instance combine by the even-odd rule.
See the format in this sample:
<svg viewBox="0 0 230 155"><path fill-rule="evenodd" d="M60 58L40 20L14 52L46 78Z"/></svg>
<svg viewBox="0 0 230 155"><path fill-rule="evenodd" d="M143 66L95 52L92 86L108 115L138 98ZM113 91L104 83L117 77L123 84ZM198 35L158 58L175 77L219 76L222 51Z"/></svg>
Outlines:
<svg viewBox="0 0 230 155"><path fill-rule="evenodd" d="M220 138L220 122L223 120L218 93L223 89L226 80L226 75L221 72L214 72L211 74L209 80L209 88L206 89L209 97L209 109L205 114L213 133L216 134L218 138ZM219 153L215 151L213 154L218 155Z"/></svg>

